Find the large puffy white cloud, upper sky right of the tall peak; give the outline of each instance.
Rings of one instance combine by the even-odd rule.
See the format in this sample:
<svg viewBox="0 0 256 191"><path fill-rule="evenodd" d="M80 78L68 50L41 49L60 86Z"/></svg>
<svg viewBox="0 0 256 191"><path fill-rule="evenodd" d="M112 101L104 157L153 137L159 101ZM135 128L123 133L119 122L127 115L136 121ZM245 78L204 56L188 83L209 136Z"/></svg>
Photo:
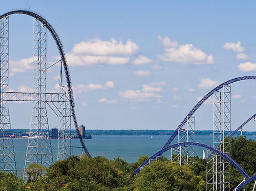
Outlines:
<svg viewBox="0 0 256 191"><path fill-rule="evenodd" d="M115 38L110 41L95 38L75 44L72 52L88 55L133 55L139 50L139 46L131 40L123 44L122 40L117 41Z"/></svg>

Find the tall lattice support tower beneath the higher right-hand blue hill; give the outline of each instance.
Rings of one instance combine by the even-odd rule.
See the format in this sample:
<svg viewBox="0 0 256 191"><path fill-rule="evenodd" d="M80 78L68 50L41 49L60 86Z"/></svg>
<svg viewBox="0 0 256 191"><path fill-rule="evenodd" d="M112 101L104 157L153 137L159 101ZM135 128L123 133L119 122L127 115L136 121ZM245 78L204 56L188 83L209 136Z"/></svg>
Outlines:
<svg viewBox="0 0 256 191"><path fill-rule="evenodd" d="M214 91L213 146L230 156L231 88ZM207 190L230 190L230 163L207 151Z"/></svg>

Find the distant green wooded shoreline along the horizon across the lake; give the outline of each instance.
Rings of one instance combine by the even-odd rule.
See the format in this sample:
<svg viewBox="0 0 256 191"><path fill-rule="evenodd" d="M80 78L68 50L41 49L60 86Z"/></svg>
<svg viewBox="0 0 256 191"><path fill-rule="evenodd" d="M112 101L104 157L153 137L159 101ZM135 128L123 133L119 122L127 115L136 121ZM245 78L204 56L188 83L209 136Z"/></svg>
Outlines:
<svg viewBox="0 0 256 191"><path fill-rule="evenodd" d="M51 130L50 130L51 131ZM156 135L166 135L171 136L175 130L133 130L133 129L127 129L127 130L99 130L99 129L86 129L86 135L97 135L97 136L156 136ZM12 129L12 133L14 134L22 134L29 132L29 129ZM233 131L231 131L233 132ZM76 133L76 131L73 129L72 133ZM201 135L201 136L207 136L207 135L213 135L212 130L196 130L195 135ZM236 136L240 135L240 131L236 133ZM256 136L256 131L243 131L244 136Z"/></svg>

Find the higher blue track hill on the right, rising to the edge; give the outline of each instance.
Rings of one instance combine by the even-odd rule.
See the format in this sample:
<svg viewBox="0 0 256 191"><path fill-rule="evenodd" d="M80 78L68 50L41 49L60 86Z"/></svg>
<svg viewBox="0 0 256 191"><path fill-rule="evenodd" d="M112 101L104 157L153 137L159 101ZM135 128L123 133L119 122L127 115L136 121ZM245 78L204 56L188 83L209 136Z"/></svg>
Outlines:
<svg viewBox="0 0 256 191"><path fill-rule="evenodd" d="M176 137L176 135L178 134L178 129L181 129L187 122L187 119L189 117L191 117L195 112L196 110L203 104L203 102L205 102L208 98L211 97L211 95L214 93L214 91L218 91L220 90L221 88L223 88L223 86L226 86L226 85L229 85L229 84L232 84L234 82L238 82L238 81L241 81L241 80L256 80L256 76L242 76L242 77L237 77L237 78L234 78L234 79L231 79L231 80L228 80L220 85L218 85L217 87L215 87L214 89L212 89L211 91L209 91L190 111L189 113L187 114L187 116L182 120L182 122L180 123L180 125L176 128L176 130L174 131L174 133L171 135L171 137L168 139L168 141L165 143L165 145L163 145L162 149L169 146L170 143L174 140L174 138ZM151 156L149 159L153 159L152 158L153 156ZM145 166L145 164L147 163L147 161L149 160L145 160L141 165L140 167L143 167ZM140 169L139 167L139 169Z"/></svg>

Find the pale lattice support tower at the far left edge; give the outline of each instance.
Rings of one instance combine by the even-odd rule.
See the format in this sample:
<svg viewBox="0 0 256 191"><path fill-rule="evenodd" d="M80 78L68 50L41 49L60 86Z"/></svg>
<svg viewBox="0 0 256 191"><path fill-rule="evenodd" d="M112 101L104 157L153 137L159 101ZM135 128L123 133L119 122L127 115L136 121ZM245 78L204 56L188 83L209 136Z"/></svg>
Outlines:
<svg viewBox="0 0 256 191"><path fill-rule="evenodd" d="M9 114L9 18L0 20L0 171L16 171L15 154L13 148L11 121Z"/></svg>

